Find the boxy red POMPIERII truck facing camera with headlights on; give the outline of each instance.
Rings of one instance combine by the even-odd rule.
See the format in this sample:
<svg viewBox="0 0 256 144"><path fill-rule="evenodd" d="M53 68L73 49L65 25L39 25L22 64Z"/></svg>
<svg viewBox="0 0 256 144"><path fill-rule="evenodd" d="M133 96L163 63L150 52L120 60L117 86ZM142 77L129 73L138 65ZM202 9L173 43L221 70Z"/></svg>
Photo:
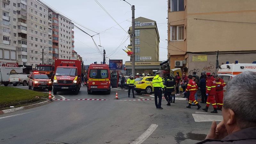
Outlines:
<svg viewBox="0 0 256 144"><path fill-rule="evenodd" d="M82 62L80 60L55 60L53 94L72 91L78 94L81 88Z"/></svg>

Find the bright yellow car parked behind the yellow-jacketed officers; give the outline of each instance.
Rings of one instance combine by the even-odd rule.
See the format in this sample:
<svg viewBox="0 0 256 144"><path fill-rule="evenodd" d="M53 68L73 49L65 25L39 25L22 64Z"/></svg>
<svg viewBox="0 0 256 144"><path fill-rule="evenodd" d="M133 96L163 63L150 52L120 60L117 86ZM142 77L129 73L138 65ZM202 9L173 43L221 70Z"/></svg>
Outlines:
<svg viewBox="0 0 256 144"><path fill-rule="evenodd" d="M135 79L135 91L137 93L140 93L141 91L144 91L145 93L149 94L151 92L154 92L152 80L155 76L145 76L145 77L138 77ZM164 78L162 77L163 82Z"/></svg>

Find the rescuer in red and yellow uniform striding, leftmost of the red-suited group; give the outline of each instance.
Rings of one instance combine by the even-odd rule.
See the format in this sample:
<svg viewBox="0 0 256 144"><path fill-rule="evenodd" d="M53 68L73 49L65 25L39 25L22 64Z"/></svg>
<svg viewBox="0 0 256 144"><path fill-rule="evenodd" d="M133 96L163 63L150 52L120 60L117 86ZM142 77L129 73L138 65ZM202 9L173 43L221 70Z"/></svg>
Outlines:
<svg viewBox="0 0 256 144"><path fill-rule="evenodd" d="M195 79L195 78L196 77L194 77L193 79ZM192 79L192 75L188 75L188 86L187 86L185 93L187 93L189 91L189 101L188 101L188 106L186 108L191 108L192 102L194 102L195 105L197 105L196 109L200 109L201 106L195 100L195 94L196 94L196 91L198 90L198 86L193 79Z"/></svg>

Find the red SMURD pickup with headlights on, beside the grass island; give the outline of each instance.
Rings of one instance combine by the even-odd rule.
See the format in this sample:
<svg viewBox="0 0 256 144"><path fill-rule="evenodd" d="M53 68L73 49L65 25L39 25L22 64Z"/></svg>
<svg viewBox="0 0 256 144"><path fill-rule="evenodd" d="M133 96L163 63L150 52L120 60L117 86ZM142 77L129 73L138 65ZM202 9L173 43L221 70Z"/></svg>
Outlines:
<svg viewBox="0 0 256 144"><path fill-rule="evenodd" d="M48 89L52 91L52 81L46 74L33 72L28 76L28 89Z"/></svg>

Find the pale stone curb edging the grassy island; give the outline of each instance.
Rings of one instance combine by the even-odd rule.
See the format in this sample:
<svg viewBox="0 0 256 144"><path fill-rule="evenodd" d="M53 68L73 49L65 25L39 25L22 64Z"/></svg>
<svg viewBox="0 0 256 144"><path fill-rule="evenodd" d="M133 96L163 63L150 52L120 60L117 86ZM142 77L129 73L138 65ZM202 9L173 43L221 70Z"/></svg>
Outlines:
<svg viewBox="0 0 256 144"><path fill-rule="evenodd" d="M46 101L43 101L43 102L39 102L39 103L35 103L35 104L32 104L32 105L23 106L23 107L19 107L19 108L11 108L11 109L0 110L0 115L16 112L16 111L20 111L20 110L25 110L25 109L29 109L29 108L36 108L36 107L43 106L43 105L46 105L46 104L51 103L51 102L52 102L52 100L46 100Z"/></svg>

